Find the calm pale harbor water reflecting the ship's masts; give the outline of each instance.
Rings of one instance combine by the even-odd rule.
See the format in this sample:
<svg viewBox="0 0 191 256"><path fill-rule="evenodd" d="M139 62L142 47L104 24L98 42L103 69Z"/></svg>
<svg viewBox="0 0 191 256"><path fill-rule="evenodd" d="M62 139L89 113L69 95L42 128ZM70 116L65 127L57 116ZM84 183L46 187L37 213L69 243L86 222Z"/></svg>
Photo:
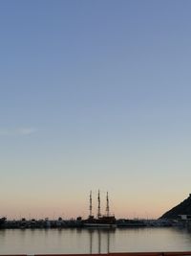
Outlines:
<svg viewBox="0 0 191 256"><path fill-rule="evenodd" d="M191 231L176 227L0 230L0 254L191 251Z"/></svg>

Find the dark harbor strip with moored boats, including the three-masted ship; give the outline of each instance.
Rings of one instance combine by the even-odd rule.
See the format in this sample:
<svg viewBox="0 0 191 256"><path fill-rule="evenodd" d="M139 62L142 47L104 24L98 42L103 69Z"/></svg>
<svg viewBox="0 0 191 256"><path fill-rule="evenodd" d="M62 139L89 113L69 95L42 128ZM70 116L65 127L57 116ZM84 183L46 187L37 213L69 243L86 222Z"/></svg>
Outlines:
<svg viewBox="0 0 191 256"><path fill-rule="evenodd" d="M50 220L45 219L26 219L7 220L5 217L0 219L0 229L29 229L29 228L128 228L128 227L160 227L182 225L182 221L177 220L144 220L144 219L117 219L114 214L110 213L110 203L108 192L106 194L105 214L101 214L100 192L97 193L97 214L93 215L93 198L92 191L89 197L89 216L87 219L82 217L64 220L61 217Z"/></svg>

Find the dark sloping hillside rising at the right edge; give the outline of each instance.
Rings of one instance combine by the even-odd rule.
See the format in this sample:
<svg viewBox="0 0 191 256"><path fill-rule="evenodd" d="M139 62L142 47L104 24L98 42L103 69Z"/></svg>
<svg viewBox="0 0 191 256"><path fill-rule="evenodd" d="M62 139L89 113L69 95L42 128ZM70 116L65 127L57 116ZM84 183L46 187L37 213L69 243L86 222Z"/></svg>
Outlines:
<svg viewBox="0 0 191 256"><path fill-rule="evenodd" d="M164 213L159 219L179 219L179 215L191 215L191 194L180 204Z"/></svg>

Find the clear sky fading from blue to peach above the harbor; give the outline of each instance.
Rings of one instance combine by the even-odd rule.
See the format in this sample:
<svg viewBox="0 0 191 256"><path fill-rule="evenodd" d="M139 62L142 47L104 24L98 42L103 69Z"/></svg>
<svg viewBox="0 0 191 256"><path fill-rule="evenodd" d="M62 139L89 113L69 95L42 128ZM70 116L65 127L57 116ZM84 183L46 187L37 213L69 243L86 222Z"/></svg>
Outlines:
<svg viewBox="0 0 191 256"><path fill-rule="evenodd" d="M0 2L0 216L159 218L189 196L189 0Z"/></svg>

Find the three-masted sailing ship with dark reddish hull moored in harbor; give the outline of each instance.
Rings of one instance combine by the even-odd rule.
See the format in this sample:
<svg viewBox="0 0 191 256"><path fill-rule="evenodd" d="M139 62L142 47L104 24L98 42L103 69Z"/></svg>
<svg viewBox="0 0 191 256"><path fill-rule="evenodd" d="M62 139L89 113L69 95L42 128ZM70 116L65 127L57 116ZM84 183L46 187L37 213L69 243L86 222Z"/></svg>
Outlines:
<svg viewBox="0 0 191 256"><path fill-rule="evenodd" d="M87 220L83 221L85 227L117 227L117 220L114 215L110 215L110 206L109 206L109 196L107 192L106 196L106 215L101 215L100 207L100 192L98 191L97 196L98 206L97 206L97 218L93 215L93 205L92 205L92 191L90 192L90 215Z"/></svg>

